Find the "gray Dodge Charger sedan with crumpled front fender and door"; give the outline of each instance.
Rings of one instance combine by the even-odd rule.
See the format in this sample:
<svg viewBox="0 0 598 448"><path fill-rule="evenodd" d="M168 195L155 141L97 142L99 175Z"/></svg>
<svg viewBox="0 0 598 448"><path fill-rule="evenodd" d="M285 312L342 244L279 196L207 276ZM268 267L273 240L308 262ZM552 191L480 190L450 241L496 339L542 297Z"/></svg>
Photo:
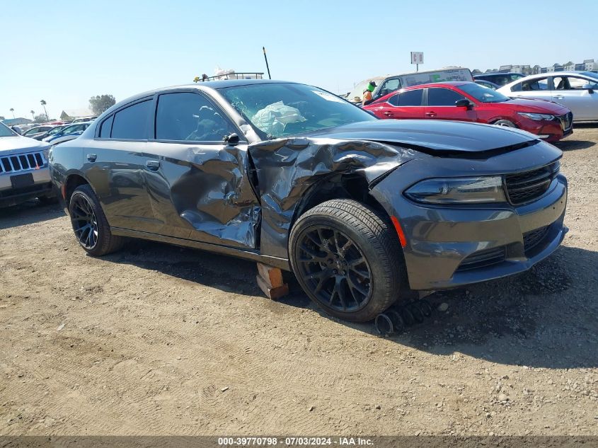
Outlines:
<svg viewBox="0 0 598 448"><path fill-rule="evenodd" d="M329 314L368 321L555 251L561 156L519 130L377 120L316 87L246 80L124 100L50 166L91 255L134 237L256 260L292 270Z"/></svg>

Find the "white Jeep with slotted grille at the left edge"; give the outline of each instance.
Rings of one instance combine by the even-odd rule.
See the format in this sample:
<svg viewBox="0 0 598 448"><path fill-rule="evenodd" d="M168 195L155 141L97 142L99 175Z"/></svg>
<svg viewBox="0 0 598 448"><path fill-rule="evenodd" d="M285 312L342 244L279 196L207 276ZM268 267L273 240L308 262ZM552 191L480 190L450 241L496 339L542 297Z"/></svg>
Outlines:
<svg viewBox="0 0 598 448"><path fill-rule="evenodd" d="M49 148L0 123L0 207L35 197L42 202L55 200L47 163Z"/></svg>

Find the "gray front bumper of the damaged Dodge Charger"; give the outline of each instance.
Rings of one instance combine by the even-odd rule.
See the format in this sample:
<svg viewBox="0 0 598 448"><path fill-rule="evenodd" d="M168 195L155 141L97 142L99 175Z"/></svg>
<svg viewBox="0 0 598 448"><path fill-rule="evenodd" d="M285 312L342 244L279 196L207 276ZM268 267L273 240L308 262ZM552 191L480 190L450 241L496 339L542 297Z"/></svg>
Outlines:
<svg viewBox="0 0 598 448"><path fill-rule="evenodd" d="M558 175L527 205L434 207L399 195L387 211L398 217L406 236L411 289L434 290L516 274L546 258L568 230L566 202L567 180ZM493 253L494 258L484 258Z"/></svg>

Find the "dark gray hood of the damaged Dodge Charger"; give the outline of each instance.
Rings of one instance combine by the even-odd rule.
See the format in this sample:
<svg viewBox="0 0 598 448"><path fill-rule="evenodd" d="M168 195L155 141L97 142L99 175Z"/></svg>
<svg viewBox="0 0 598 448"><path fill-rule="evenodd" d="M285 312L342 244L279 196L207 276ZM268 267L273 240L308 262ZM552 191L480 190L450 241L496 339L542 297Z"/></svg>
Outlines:
<svg viewBox="0 0 598 448"><path fill-rule="evenodd" d="M437 156L474 156L510 151L538 142L529 132L504 126L456 121L378 120L305 134L340 140L370 140L398 144Z"/></svg>

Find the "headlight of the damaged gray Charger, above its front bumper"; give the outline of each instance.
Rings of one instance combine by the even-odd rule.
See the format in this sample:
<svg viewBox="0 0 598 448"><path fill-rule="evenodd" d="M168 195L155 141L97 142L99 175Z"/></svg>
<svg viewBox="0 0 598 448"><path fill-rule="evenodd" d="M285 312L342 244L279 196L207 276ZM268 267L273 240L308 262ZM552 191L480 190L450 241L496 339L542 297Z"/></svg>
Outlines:
<svg viewBox="0 0 598 448"><path fill-rule="evenodd" d="M427 179L411 186L404 194L410 200L425 204L506 202L500 176Z"/></svg>

